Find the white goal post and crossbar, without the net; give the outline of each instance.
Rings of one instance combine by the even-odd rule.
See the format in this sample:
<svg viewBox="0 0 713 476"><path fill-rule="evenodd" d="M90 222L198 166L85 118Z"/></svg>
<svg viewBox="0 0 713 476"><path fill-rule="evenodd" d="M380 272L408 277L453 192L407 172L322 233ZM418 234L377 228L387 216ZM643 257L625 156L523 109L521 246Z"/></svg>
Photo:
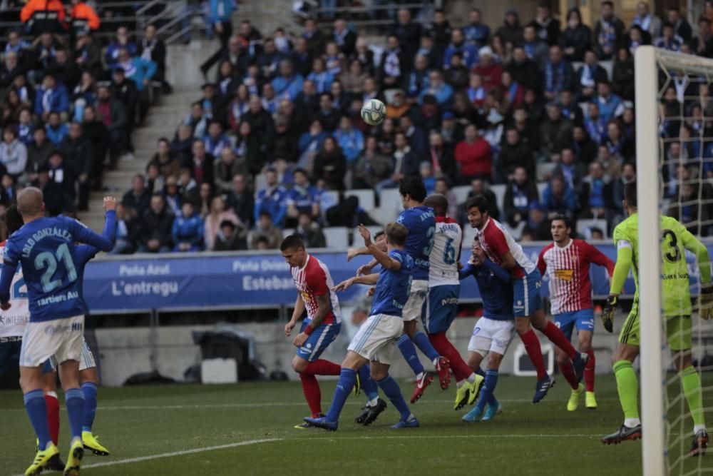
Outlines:
<svg viewBox="0 0 713 476"><path fill-rule="evenodd" d="M664 392L665 346L660 319L660 147L659 65L670 70L713 75L713 60L672 53L653 46L640 46L634 55L636 93L636 173L639 213L639 305L640 370L642 410L642 473L667 473L666 409Z"/></svg>

